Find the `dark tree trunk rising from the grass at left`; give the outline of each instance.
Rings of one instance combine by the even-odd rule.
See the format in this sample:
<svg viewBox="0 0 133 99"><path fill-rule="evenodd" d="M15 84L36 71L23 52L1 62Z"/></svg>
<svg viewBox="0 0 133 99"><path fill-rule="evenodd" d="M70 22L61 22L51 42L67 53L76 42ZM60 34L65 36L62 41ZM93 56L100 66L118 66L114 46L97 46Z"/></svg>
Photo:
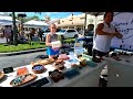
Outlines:
<svg viewBox="0 0 133 99"><path fill-rule="evenodd" d="M18 35L17 35L16 13L14 12L12 12L12 20L13 20L13 44L18 45Z"/></svg>

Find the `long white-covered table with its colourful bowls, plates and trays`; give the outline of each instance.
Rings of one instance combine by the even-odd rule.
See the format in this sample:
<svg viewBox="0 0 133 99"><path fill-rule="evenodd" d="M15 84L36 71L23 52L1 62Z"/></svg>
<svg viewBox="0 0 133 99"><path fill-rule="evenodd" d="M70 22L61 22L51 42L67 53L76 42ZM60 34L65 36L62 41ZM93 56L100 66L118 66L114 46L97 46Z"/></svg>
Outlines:
<svg viewBox="0 0 133 99"><path fill-rule="evenodd" d="M60 54L57 61L45 58L31 62L30 65L17 67L9 74L1 72L0 86L99 87L100 74L106 62L93 63L91 58L85 54L78 58L78 55L70 53Z"/></svg>

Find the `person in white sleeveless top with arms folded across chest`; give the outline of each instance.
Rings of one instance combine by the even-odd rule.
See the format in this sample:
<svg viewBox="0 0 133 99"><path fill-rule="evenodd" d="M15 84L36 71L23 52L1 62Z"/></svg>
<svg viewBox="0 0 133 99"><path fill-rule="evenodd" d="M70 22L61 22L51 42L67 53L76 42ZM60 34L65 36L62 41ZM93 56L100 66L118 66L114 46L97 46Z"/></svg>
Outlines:
<svg viewBox="0 0 133 99"><path fill-rule="evenodd" d="M116 36L117 38L122 38L123 35L119 33L119 31L111 24L113 21L113 12L105 12L104 22L98 24L95 29L95 38L93 41L93 61L100 62L102 56L106 55L110 52L110 45L112 37ZM98 59L95 56L99 56Z"/></svg>

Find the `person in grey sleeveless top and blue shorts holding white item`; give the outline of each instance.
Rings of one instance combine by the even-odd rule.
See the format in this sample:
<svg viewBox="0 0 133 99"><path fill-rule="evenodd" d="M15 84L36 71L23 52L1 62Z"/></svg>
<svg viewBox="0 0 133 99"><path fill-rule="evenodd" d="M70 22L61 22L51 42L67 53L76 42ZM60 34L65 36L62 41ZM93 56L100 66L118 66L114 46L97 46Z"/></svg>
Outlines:
<svg viewBox="0 0 133 99"><path fill-rule="evenodd" d="M52 42L55 41L60 41L60 36L58 34L55 34L57 31L57 25L55 24L51 24L50 25L50 33L47 34L47 38L45 38L45 45L47 47L47 54L49 55L49 58L54 58L59 55L60 52L60 47L52 47Z"/></svg>

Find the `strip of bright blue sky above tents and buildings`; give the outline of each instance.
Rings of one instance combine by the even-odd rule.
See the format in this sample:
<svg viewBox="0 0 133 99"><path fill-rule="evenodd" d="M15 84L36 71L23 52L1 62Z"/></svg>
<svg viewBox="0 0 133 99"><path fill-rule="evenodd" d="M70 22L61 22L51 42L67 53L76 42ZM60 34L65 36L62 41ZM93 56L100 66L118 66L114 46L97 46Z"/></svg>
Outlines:
<svg viewBox="0 0 133 99"><path fill-rule="evenodd" d="M82 12L73 12L73 15L78 15L81 14ZM61 18L66 18L70 14L72 14L72 12L42 12L41 14L39 13L34 13L34 12L25 12L27 16L33 16L33 15L38 15L40 19L44 19L44 15L49 15L51 19L61 19Z"/></svg>

